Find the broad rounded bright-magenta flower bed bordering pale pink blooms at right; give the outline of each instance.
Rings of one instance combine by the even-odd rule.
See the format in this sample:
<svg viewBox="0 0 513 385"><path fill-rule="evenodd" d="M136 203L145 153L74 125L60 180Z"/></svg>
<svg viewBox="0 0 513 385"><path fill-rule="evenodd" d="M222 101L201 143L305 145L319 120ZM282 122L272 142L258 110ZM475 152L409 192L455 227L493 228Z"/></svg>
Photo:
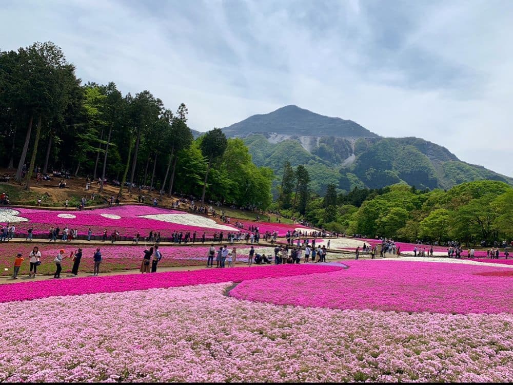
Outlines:
<svg viewBox="0 0 513 385"><path fill-rule="evenodd" d="M499 268L380 260L346 264L348 269L332 273L242 282L230 296L333 309L448 314L513 312L513 281L476 275L500 272ZM280 290L274 290L276 287Z"/></svg>

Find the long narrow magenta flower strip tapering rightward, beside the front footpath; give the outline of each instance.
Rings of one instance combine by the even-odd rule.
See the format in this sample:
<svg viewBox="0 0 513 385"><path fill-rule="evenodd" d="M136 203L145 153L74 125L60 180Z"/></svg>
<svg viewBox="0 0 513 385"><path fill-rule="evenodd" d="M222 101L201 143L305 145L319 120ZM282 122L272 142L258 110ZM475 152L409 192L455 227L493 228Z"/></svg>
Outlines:
<svg viewBox="0 0 513 385"><path fill-rule="evenodd" d="M24 301L53 296L116 293L149 288L177 287L220 282L241 282L258 278L288 277L298 274L340 270L333 265L275 265L258 267L212 268L192 272L129 274L74 279L49 279L0 285L0 302Z"/></svg>

